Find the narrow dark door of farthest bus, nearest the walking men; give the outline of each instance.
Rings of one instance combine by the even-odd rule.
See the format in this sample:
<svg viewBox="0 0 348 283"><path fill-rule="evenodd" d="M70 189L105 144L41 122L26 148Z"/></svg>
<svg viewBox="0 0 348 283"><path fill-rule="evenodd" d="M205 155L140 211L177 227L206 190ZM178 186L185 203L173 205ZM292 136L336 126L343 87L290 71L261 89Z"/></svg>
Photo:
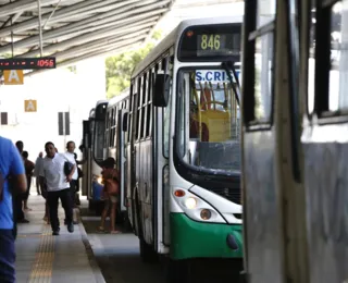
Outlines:
<svg viewBox="0 0 348 283"><path fill-rule="evenodd" d="M82 171L84 173L83 177L83 189L82 194L83 196L90 197L91 193L91 176L90 176L90 165L91 165L91 132L90 132L90 122L83 121L83 160L85 161L82 165Z"/></svg>

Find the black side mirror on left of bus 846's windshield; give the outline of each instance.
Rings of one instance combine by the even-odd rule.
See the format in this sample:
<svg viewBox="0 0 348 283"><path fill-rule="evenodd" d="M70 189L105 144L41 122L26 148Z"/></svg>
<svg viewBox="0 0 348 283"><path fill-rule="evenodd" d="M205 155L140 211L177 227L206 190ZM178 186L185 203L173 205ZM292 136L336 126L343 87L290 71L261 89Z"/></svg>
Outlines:
<svg viewBox="0 0 348 283"><path fill-rule="evenodd" d="M171 76L158 73L153 85L153 104L156 107L166 107L171 91Z"/></svg>

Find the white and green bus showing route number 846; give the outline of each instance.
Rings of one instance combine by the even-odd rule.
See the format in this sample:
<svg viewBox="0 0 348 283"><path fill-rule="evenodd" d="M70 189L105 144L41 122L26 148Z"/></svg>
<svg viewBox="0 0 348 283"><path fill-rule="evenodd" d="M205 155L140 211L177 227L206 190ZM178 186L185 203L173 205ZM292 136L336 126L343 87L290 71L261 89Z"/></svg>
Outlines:
<svg viewBox="0 0 348 283"><path fill-rule="evenodd" d="M240 41L241 17L184 21L132 75L128 217L142 259L169 256L173 282L191 259L241 266Z"/></svg>

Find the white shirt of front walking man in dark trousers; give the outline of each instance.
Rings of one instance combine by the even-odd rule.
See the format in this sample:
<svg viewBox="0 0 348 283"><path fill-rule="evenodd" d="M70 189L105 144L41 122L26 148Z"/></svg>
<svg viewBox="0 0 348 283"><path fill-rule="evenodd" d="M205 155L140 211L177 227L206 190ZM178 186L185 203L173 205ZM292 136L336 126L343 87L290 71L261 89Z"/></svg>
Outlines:
<svg viewBox="0 0 348 283"><path fill-rule="evenodd" d="M66 161L66 157L62 153L55 153L53 158L44 158L40 176L46 179L48 192L62 190L70 187L70 184L65 181L64 173L64 163Z"/></svg>

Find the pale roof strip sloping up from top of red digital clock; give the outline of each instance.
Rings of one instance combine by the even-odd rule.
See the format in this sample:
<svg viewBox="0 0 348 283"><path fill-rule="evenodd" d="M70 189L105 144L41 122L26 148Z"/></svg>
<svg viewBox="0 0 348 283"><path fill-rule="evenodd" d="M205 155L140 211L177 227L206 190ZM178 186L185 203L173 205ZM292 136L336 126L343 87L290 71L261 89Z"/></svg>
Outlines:
<svg viewBox="0 0 348 283"><path fill-rule="evenodd" d="M84 34L80 36L76 36L74 38L61 41L59 44L53 44L53 45L49 45L45 47L45 52L54 52L57 50L62 50L64 48L67 48L70 46L74 46L74 45L82 45L95 39L100 39L103 37L108 37L111 35L120 35L120 34L127 34L127 33L132 33L134 30L140 29L140 28L146 28L146 27L150 27L152 25L154 25L154 23L157 22L159 17L151 17L147 21L140 21L136 24L133 25L124 25L124 26L110 26L108 28L102 28L102 29L98 29L96 32L92 33L88 33L88 34ZM23 54L18 54L16 57L35 57L37 54L39 54L38 49L35 49L33 51L23 53Z"/></svg>

